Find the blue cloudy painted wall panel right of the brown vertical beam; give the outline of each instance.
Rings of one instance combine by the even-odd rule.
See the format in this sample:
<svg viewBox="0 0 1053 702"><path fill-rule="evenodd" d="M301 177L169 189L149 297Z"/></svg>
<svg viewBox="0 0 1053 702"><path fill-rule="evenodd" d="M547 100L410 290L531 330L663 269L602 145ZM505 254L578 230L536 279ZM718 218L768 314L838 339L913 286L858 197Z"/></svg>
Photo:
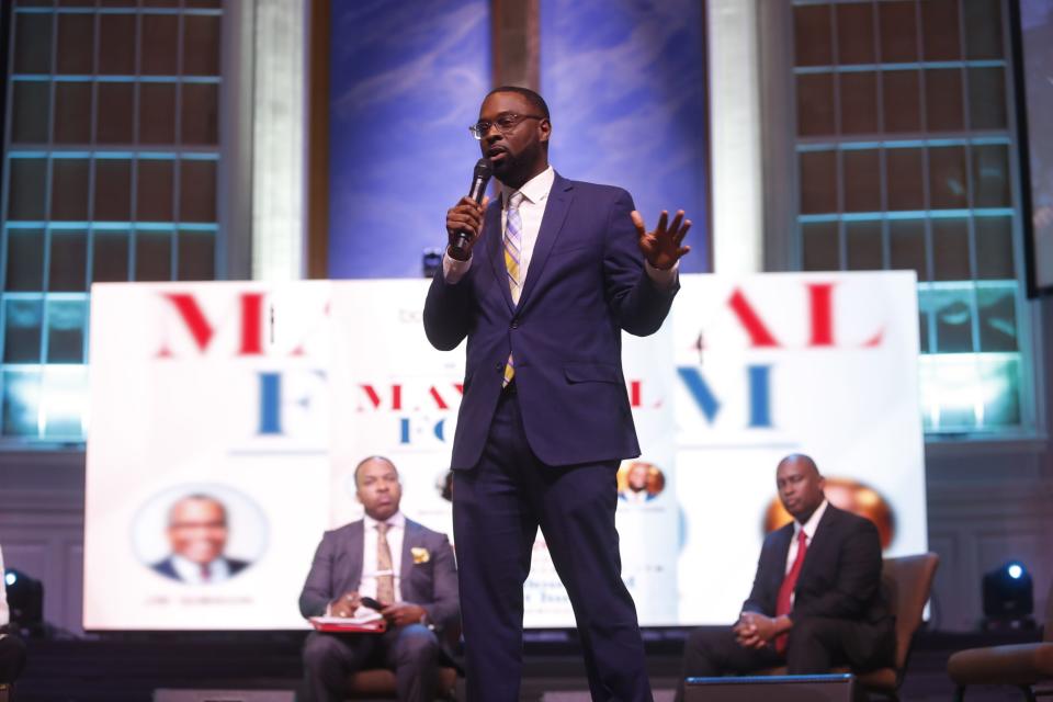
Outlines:
<svg viewBox="0 0 1053 702"><path fill-rule="evenodd" d="M709 271L704 0L541 0L541 87L561 174L694 223L684 272Z"/></svg>

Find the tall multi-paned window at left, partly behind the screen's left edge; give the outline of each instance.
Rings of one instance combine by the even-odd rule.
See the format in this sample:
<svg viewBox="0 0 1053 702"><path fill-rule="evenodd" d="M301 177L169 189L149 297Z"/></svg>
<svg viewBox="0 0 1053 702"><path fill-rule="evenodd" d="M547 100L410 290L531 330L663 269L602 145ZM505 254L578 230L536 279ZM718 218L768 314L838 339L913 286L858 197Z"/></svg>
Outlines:
<svg viewBox="0 0 1053 702"><path fill-rule="evenodd" d="M0 445L83 440L92 283L214 278L220 4L13 3Z"/></svg>

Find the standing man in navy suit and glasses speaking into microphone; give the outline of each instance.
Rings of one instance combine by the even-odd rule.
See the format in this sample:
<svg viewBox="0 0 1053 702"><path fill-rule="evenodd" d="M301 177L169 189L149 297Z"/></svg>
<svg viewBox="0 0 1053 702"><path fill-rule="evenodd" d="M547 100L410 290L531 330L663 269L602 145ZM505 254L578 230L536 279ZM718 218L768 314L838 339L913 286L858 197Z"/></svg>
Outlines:
<svg viewBox="0 0 1053 702"><path fill-rule="evenodd" d="M531 90L491 91L469 129L500 197L446 213L424 304L435 348L468 340L451 461L468 700L519 700L523 581L541 526L592 699L647 701L614 529L619 463L639 455L621 332L661 326L691 223L663 213L647 231L624 190L556 173L548 107Z"/></svg>

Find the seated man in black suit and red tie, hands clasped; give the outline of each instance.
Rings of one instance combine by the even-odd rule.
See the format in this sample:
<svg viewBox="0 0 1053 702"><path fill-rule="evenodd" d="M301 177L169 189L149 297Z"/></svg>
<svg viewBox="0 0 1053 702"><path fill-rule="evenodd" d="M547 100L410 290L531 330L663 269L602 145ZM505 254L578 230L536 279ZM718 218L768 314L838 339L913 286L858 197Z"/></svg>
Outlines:
<svg viewBox="0 0 1053 702"><path fill-rule="evenodd" d="M895 621L881 592L881 540L873 522L826 501L815 462L790 455L775 474L791 523L768 534L738 622L698 630L683 678L748 673L785 665L790 675L891 666Z"/></svg>

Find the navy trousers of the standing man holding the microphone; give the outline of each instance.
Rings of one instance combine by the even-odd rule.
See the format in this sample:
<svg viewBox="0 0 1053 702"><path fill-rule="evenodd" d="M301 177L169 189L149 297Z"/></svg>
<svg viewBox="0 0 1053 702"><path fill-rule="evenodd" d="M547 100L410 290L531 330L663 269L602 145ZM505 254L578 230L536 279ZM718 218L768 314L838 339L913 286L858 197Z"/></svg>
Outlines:
<svg viewBox="0 0 1053 702"><path fill-rule="evenodd" d="M526 442L514 387L501 394L479 463L454 473L468 702L519 701L523 582L539 526L570 597L592 699L652 699L621 578L618 464L543 464Z"/></svg>

